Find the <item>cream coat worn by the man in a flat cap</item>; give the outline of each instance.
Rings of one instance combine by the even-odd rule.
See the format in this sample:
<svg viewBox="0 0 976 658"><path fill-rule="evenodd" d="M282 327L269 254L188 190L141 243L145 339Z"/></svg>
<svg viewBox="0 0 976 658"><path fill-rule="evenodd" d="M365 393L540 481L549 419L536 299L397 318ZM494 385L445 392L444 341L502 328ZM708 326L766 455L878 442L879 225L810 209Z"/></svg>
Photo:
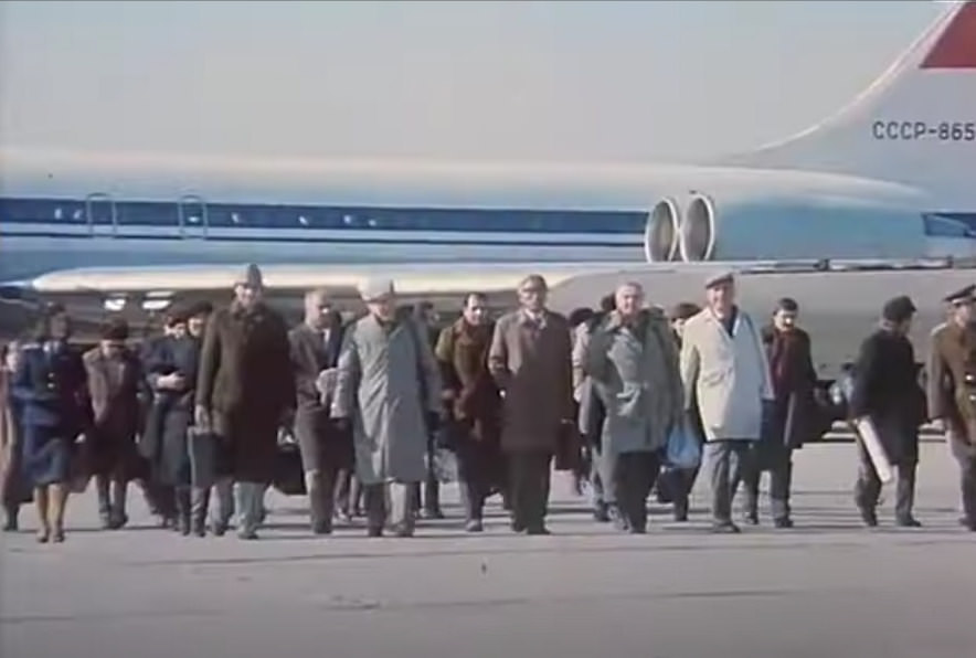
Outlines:
<svg viewBox="0 0 976 658"><path fill-rule="evenodd" d="M711 309L685 323L681 379L686 410L698 403L706 441L760 439L773 383L760 331L744 310L731 336Z"/></svg>

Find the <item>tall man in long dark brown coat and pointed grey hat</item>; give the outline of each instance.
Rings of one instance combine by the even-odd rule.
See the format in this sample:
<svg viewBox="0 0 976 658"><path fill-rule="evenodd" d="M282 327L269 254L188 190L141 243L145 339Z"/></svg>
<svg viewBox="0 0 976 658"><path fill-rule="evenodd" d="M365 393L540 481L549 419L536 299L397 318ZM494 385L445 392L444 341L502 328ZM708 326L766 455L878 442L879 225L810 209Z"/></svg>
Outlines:
<svg viewBox="0 0 976 658"><path fill-rule="evenodd" d="M261 269L248 265L230 307L206 325L197 378L195 424L226 442L241 539L257 538L278 429L290 425L295 408L288 329L263 293Z"/></svg>

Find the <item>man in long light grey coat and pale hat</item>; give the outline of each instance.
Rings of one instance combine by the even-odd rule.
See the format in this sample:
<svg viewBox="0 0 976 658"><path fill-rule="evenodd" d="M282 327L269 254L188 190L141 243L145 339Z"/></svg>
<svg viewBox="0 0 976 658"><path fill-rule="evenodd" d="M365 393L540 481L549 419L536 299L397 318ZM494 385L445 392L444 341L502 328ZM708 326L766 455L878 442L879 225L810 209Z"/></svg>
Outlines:
<svg viewBox="0 0 976 658"><path fill-rule="evenodd" d="M346 330L331 416L352 427L369 535L381 537L391 518L399 537L411 537L414 485L426 476L427 435L441 416L441 376L424 329L397 314L393 283L371 280L360 294L369 314Z"/></svg>

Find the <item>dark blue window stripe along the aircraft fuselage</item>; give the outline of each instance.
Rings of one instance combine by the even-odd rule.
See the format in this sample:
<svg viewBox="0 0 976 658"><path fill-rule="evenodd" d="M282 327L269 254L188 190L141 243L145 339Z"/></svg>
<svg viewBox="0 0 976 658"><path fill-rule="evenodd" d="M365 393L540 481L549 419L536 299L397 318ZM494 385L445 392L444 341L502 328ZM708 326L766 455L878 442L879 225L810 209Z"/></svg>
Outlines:
<svg viewBox="0 0 976 658"><path fill-rule="evenodd" d="M554 231L634 233L646 214L632 211L531 211L423 208L161 203L0 199L0 222L119 226L416 229L427 231Z"/></svg>

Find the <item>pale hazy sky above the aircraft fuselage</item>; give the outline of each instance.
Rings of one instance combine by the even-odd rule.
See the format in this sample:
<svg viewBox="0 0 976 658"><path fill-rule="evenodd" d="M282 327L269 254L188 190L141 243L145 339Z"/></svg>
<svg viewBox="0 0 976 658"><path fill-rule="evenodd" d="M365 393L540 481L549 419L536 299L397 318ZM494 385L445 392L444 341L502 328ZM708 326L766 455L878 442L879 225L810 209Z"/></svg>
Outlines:
<svg viewBox="0 0 976 658"><path fill-rule="evenodd" d="M942 11L893 2L3 2L0 141L693 160L805 128Z"/></svg>

